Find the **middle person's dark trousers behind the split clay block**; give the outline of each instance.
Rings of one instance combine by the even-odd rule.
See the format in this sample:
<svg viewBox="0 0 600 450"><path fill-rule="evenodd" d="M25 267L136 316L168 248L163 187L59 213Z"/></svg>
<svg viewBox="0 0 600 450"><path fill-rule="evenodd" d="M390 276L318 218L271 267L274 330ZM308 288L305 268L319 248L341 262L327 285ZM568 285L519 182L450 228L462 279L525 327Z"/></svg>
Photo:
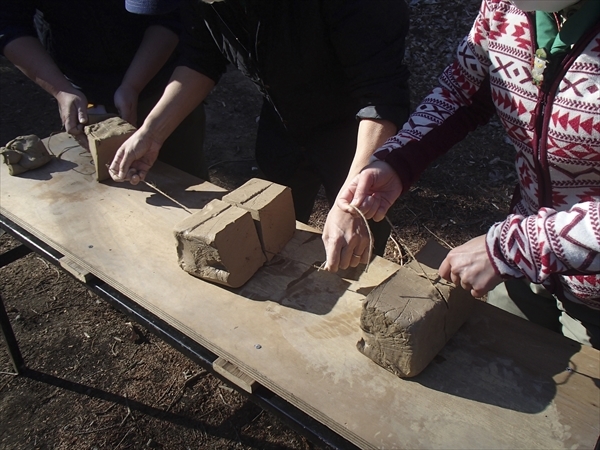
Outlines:
<svg viewBox="0 0 600 450"><path fill-rule="evenodd" d="M296 219L308 223L321 186L329 206L346 180L354 153L358 121L354 118L295 139L268 102L263 102L256 138L256 161L274 183L292 189ZM374 253L383 255L390 225L369 221Z"/></svg>

